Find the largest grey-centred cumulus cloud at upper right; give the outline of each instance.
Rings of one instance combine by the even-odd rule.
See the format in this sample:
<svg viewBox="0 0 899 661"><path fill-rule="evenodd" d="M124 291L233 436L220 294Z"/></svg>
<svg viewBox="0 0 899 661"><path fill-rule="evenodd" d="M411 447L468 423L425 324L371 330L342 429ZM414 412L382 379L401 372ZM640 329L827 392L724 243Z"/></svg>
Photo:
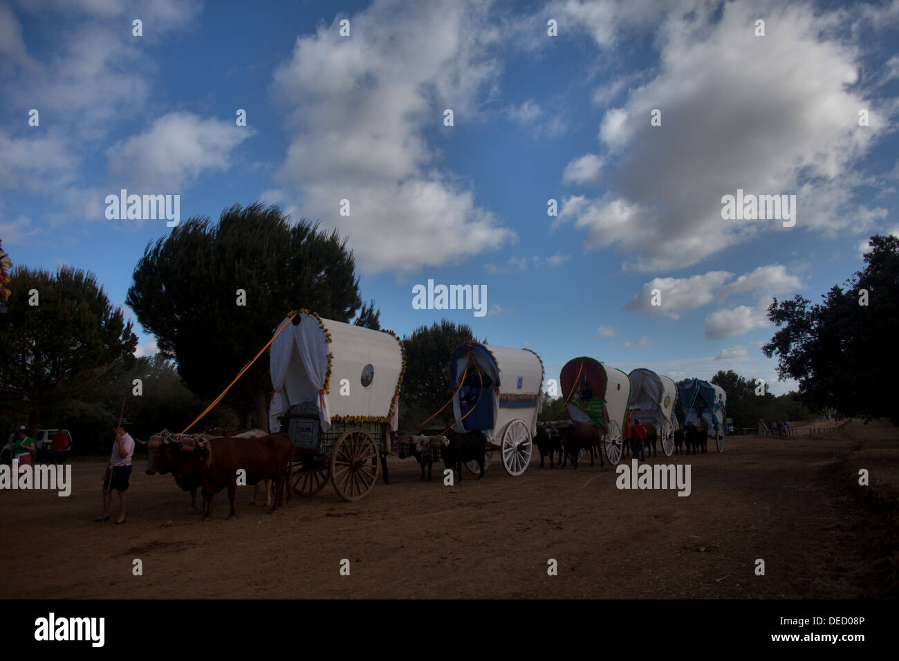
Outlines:
<svg viewBox="0 0 899 661"><path fill-rule="evenodd" d="M601 119L608 192L563 198L556 223L583 230L587 248L618 245L636 256L630 267L651 271L792 231L721 219L721 197L737 189L796 193L796 229L860 232L884 217L857 201L864 182L853 168L886 134L895 107L857 85L859 51L834 30L852 13L770 4L761 39L752 4L687 2L667 13L637 4L559 5L601 49L654 20L660 59L656 75ZM859 108L870 111L868 127L858 125ZM653 109L662 126L650 126Z"/></svg>

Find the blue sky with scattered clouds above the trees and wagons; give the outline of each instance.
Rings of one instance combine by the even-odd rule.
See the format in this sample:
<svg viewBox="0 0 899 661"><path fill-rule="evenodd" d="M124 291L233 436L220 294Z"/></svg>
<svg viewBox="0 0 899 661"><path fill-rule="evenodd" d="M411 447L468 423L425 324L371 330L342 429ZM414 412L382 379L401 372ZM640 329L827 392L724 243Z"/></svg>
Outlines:
<svg viewBox="0 0 899 661"><path fill-rule="evenodd" d="M4 3L0 239L123 304L171 230L106 219L106 195L278 203L349 237L401 335L449 317L547 379L586 354L786 392L767 301L817 300L899 231L897 45L897 0ZM795 227L722 219L737 189L797 195ZM486 285L487 315L414 309L428 279Z"/></svg>

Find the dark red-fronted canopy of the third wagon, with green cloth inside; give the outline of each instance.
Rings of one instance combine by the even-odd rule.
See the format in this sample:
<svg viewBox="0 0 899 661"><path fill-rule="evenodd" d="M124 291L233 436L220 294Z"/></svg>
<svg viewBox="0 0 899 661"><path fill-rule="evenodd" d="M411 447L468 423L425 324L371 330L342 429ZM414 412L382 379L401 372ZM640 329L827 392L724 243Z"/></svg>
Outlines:
<svg viewBox="0 0 899 661"><path fill-rule="evenodd" d="M562 396L572 420L592 421L605 430L610 421L624 426L630 399L628 375L587 356L573 358L559 373Z"/></svg>

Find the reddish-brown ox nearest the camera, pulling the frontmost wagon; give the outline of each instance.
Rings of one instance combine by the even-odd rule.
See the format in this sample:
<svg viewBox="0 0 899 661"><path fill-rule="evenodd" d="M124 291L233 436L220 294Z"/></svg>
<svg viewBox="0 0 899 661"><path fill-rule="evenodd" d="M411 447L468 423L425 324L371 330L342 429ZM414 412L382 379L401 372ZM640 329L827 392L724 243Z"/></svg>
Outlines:
<svg viewBox="0 0 899 661"><path fill-rule="evenodd" d="M263 479L275 480L275 498L269 512L282 503L284 476L290 461L293 443L286 433L271 433L258 438L214 438L209 441L185 441L182 452L200 458L200 475L203 496L207 499L203 521L212 516L215 495L227 487L231 512L236 516L237 471L243 469L247 484L257 484ZM182 463L183 460L182 460Z"/></svg>

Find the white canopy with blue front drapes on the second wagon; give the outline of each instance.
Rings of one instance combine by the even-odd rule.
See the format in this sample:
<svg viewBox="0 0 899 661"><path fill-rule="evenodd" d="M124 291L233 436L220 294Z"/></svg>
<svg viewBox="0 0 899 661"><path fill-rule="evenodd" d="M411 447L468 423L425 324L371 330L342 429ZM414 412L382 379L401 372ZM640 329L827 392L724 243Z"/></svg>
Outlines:
<svg viewBox="0 0 899 661"><path fill-rule="evenodd" d="M515 417L528 420L533 433L543 406L542 386L543 362L530 349L467 342L449 361L458 427L463 432L482 430L489 440L508 422L500 409L518 409Z"/></svg>

